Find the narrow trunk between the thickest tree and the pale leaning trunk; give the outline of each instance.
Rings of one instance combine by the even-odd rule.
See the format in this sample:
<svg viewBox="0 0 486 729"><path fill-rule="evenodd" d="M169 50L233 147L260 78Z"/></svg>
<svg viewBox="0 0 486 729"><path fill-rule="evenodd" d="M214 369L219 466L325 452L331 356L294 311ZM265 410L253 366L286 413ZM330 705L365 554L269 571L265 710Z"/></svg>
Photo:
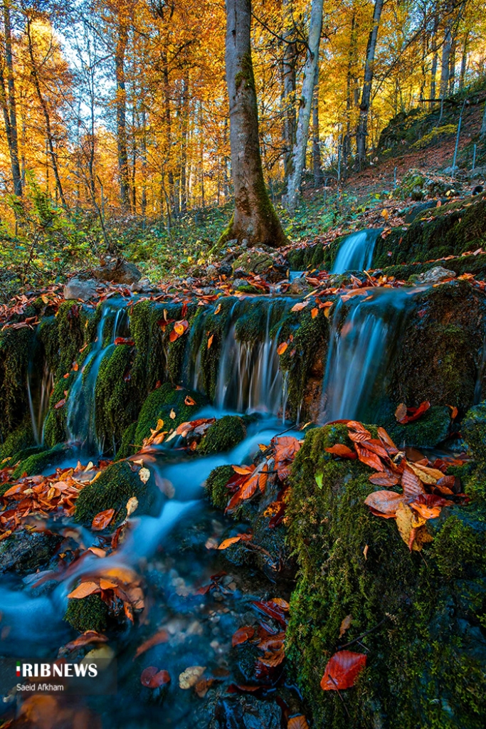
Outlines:
<svg viewBox="0 0 486 729"><path fill-rule="evenodd" d="M295 68L297 65L297 43L291 14L291 0L283 0L283 186L286 188L291 174L292 149L295 144L297 117L295 113Z"/></svg>

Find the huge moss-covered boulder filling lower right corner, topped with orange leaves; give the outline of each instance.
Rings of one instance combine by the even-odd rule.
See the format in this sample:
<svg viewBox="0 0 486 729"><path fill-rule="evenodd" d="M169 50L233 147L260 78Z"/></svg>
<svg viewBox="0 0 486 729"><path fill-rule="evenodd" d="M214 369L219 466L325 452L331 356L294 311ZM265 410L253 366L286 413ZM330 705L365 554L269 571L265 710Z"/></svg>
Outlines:
<svg viewBox="0 0 486 729"><path fill-rule="evenodd" d="M442 510L434 541L409 553L393 520L369 512L379 487L358 461L325 448L345 428L314 429L294 461L286 512L299 563L287 655L315 726L333 729L479 729L486 713L486 504ZM342 620L350 628L340 637ZM359 639L359 642L356 641ZM323 691L340 647L367 651L367 667L342 693ZM346 708L343 706L345 702Z"/></svg>

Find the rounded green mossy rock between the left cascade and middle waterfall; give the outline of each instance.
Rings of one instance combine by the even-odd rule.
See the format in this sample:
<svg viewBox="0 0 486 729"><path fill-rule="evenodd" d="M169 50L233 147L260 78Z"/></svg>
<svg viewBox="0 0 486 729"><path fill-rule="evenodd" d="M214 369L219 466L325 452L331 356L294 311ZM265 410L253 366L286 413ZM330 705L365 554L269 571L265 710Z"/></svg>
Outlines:
<svg viewBox="0 0 486 729"><path fill-rule="evenodd" d="M194 400L196 405L187 405L186 399L188 402ZM164 421L166 430L176 429L181 423L195 420L197 410L204 405L208 405L208 399L200 392L176 389L168 382L163 384L151 392L142 405L135 432L136 445L142 445L150 430L157 426L157 421Z"/></svg>

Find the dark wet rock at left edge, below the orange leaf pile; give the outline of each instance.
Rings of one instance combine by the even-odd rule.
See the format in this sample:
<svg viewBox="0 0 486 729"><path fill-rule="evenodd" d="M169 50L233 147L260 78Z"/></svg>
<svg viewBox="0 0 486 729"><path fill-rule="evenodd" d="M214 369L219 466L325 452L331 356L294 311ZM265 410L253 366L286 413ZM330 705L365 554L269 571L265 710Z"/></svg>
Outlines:
<svg viewBox="0 0 486 729"><path fill-rule="evenodd" d="M15 531L0 542L0 572L31 574L49 564L63 537L52 531Z"/></svg>

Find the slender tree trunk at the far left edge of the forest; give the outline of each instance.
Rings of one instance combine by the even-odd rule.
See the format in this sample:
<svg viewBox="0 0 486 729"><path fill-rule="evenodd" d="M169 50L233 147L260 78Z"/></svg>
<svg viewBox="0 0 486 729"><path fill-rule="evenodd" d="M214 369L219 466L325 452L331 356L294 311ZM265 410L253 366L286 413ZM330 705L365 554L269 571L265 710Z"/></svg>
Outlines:
<svg viewBox="0 0 486 729"><path fill-rule="evenodd" d="M18 135L17 135L17 104L15 101L15 79L12 54L12 26L10 23L10 2L4 2L4 34L5 34L5 65L7 66L7 89L5 93L2 84L2 106L4 110L5 132L9 147L10 166L12 168L12 180L14 193L22 196L22 177L20 175L20 163L18 157Z"/></svg>

